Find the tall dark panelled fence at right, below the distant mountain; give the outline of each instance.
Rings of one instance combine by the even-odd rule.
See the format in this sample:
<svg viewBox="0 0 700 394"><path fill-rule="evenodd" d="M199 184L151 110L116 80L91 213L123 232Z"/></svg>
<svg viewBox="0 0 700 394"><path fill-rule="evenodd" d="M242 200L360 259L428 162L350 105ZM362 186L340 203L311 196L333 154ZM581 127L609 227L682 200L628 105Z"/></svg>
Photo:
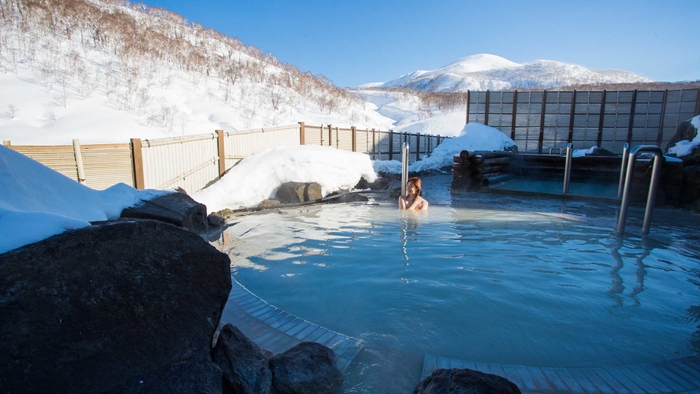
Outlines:
<svg viewBox="0 0 700 394"><path fill-rule="evenodd" d="M678 125L700 114L700 89L633 91L470 91L467 123L497 128L520 152L599 146L621 153L651 144L664 149Z"/></svg>

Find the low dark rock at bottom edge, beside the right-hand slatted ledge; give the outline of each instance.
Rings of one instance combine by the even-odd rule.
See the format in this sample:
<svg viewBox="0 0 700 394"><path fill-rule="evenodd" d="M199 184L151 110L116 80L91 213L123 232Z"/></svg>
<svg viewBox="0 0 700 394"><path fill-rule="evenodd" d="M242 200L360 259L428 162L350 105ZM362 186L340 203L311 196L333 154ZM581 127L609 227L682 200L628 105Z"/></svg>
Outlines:
<svg viewBox="0 0 700 394"><path fill-rule="evenodd" d="M438 369L423 379L413 394L520 394L515 383L471 369Z"/></svg>

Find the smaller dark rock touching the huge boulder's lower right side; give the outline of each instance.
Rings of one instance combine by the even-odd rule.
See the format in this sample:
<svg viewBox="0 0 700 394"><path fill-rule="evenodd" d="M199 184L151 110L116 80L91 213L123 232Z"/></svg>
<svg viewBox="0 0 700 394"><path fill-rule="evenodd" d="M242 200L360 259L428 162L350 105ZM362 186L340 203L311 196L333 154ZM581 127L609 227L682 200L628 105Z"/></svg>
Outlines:
<svg viewBox="0 0 700 394"><path fill-rule="evenodd" d="M248 337L226 324L212 352L224 375L224 394L267 394L272 385L268 357Z"/></svg>

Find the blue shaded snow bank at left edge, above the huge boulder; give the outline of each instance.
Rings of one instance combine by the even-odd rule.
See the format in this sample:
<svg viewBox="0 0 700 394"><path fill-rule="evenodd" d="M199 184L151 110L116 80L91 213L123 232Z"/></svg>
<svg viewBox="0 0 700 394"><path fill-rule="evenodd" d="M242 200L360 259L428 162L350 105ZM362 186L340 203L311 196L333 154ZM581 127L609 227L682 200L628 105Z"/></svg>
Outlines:
<svg viewBox="0 0 700 394"><path fill-rule="evenodd" d="M93 190L0 147L0 253L87 227L91 221L116 219L124 208L164 193L123 183Z"/></svg>

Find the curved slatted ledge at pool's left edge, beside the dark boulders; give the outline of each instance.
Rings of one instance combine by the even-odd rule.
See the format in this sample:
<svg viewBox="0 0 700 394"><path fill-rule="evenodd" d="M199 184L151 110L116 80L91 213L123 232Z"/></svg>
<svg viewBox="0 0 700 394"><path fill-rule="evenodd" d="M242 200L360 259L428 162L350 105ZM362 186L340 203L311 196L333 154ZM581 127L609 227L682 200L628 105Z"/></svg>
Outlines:
<svg viewBox="0 0 700 394"><path fill-rule="evenodd" d="M279 354L301 342L317 342L335 352L338 368L345 371L362 348L360 339L339 334L278 309L233 278L232 285L221 325L233 324L261 349Z"/></svg>

